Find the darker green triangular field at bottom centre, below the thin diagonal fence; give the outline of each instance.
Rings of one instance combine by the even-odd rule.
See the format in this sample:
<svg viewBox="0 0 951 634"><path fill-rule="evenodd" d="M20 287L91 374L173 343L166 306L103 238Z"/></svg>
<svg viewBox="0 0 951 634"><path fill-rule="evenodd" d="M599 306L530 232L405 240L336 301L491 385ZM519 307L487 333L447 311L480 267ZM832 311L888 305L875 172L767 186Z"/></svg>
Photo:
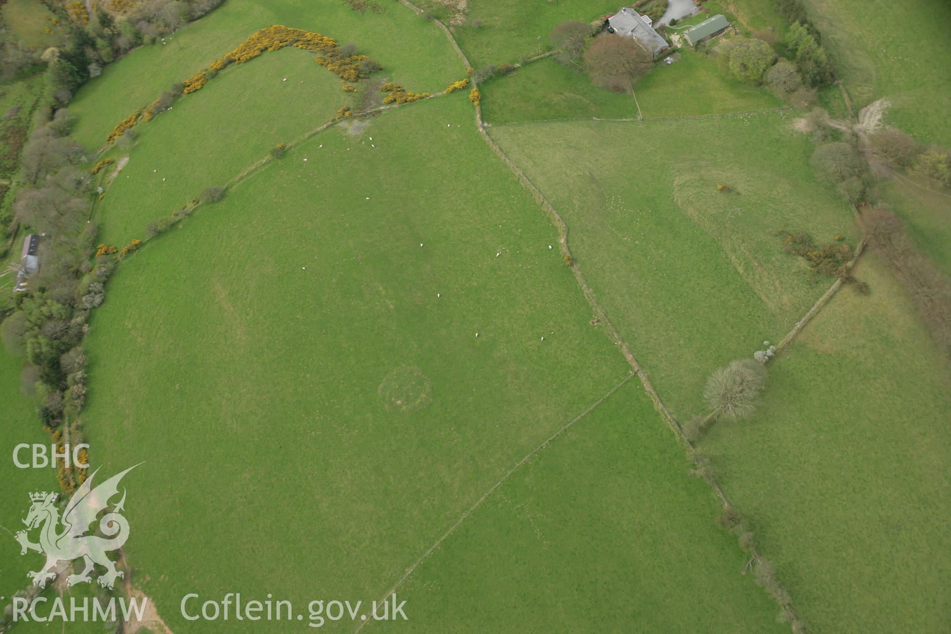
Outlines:
<svg viewBox="0 0 951 634"><path fill-rule="evenodd" d="M627 383L417 567L397 593L413 608L402 629L787 631L670 438Z"/></svg>

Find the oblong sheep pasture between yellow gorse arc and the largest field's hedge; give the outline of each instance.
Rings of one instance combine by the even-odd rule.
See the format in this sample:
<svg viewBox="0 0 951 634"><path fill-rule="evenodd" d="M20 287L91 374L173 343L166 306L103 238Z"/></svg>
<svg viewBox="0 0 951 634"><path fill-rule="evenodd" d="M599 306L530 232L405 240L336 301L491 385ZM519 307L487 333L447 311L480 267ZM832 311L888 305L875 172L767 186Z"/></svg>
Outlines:
<svg viewBox="0 0 951 634"><path fill-rule="evenodd" d="M94 177L106 188L96 203L98 240L119 246L141 240L148 222L170 216L207 187L223 186L266 159L275 145L319 128L352 101L336 75L297 48L227 68L171 110L136 126L133 147L109 151L115 163Z"/></svg>

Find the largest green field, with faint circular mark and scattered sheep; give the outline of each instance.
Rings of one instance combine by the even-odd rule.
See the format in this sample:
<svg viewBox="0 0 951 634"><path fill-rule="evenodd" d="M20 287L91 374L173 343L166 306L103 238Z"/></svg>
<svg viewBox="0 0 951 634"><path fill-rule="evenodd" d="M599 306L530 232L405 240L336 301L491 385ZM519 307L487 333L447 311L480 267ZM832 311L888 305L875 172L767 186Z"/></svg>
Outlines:
<svg viewBox="0 0 951 634"><path fill-rule="evenodd" d="M454 95L311 139L128 259L84 419L109 469L148 460L127 546L146 594L380 596L630 371L555 240Z"/></svg>

